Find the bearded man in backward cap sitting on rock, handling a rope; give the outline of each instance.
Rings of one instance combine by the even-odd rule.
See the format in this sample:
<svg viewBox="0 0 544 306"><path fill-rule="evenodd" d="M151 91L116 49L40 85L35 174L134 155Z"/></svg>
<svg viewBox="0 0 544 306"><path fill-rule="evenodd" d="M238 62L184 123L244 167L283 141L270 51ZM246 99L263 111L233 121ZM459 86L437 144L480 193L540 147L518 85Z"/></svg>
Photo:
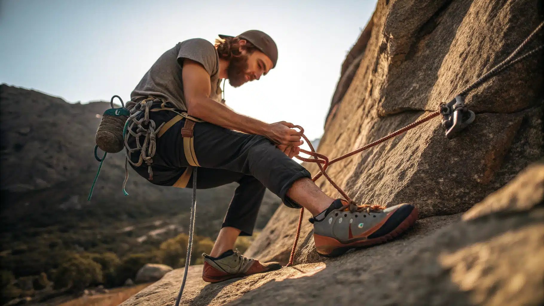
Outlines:
<svg viewBox="0 0 544 306"><path fill-rule="evenodd" d="M203 121L190 133L194 142L188 153L184 147L187 138L182 134L188 133L183 127L189 119L175 121L172 111L150 111L157 127L165 123L157 134L151 183L191 186L189 169L197 165L199 189L240 184L211 253L203 254L202 278L206 282L281 268L278 263L259 263L233 251L239 235L252 234L267 188L288 207L310 211L316 248L325 256L386 241L416 220L417 211L409 204L362 210L327 196L312 182L311 174L292 160L303 143L293 123L269 124L227 108L220 99L221 80L228 79L233 87L259 80L276 67L278 52L270 36L258 30L236 37L219 36L215 46L203 39L190 39L166 51L141 79L127 104L130 109L145 98L157 98L160 103L155 100L155 108L166 103L178 113L187 111ZM131 160L135 163L138 156L132 154ZM147 166L133 168L149 179Z"/></svg>

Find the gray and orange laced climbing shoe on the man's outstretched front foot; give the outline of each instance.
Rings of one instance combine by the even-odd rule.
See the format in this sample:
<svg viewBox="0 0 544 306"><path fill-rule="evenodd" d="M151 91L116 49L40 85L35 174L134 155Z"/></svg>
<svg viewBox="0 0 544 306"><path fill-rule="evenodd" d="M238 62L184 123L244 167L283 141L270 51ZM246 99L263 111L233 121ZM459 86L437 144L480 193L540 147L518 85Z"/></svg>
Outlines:
<svg viewBox="0 0 544 306"><path fill-rule="evenodd" d="M357 206L344 199L336 199L325 211L310 218L317 252L325 257L393 239L416 220L417 208L411 204L384 209L378 205Z"/></svg>

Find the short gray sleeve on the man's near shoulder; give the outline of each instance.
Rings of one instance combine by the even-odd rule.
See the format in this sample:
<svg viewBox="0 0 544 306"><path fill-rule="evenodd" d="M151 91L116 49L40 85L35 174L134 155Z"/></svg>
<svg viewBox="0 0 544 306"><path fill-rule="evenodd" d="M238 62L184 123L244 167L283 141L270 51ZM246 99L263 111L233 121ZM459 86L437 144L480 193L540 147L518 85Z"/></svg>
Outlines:
<svg viewBox="0 0 544 306"><path fill-rule="evenodd" d="M182 65L183 59L186 58L200 63L210 76L217 73L219 65L217 51L212 43L205 39L194 38L181 42L177 62Z"/></svg>

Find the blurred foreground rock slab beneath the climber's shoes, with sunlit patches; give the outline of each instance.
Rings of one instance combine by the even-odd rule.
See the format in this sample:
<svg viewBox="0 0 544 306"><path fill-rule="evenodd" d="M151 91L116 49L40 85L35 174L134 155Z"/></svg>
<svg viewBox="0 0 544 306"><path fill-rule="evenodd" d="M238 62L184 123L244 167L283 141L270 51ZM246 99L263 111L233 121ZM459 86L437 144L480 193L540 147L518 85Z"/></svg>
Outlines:
<svg viewBox="0 0 544 306"><path fill-rule="evenodd" d="M191 266L181 304L540 305L544 159L465 214L424 218L392 242L318 259L218 284ZM182 277L169 272L122 305L173 305Z"/></svg>

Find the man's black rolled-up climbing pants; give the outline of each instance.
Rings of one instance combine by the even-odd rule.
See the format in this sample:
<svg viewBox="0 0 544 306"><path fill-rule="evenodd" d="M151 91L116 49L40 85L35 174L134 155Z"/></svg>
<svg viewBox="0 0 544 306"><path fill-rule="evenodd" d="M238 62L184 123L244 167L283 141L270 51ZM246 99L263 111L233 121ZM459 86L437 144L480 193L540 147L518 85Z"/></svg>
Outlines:
<svg viewBox="0 0 544 306"><path fill-rule="evenodd" d="M150 119L155 121L157 127L175 116L176 113L172 111L150 112ZM172 186L189 166L181 136L185 120L175 123L157 139L151 183ZM135 140L131 138L131 141L129 145L135 147ZM143 142L143 138L140 141ZM199 122L194 127L194 152L200 165L197 169L197 189L232 182L240 184L234 192L223 227L238 228L242 231L241 235L251 235L266 188L280 197L288 207L300 208L286 193L295 180L311 178L311 174L264 136L239 133L212 123ZM139 152L131 155L134 162L138 158ZM140 176L149 178L145 164L133 168ZM192 186L191 177L187 188Z"/></svg>

